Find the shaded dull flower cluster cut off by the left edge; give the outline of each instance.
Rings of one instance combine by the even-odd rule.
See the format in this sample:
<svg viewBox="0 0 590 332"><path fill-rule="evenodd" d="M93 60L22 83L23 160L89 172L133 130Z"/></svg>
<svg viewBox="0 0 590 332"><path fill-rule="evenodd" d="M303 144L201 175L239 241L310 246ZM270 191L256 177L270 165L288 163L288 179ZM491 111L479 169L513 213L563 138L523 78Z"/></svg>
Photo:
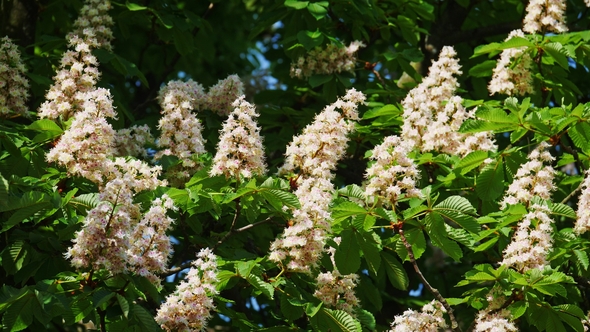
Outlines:
<svg viewBox="0 0 590 332"><path fill-rule="evenodd" d="M8 37L0 40L0 116L29 115L29 80L20 52Z"/></svg>

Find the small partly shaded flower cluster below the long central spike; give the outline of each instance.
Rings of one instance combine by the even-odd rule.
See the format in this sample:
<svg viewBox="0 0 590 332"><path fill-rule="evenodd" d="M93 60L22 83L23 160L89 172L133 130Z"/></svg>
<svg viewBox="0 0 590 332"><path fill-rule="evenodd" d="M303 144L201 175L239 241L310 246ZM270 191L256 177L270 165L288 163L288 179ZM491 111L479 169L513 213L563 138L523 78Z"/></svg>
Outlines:
<svg viewBox="0 0 590 332"><path fill-rule="evenodd" d="M340 245L341 238L334 238L334 242ZM359 300L354 289L359 282L359 276L355 273L342 275L336 268L334 255L336 248L330 247L328 254L332 260L334 271L318 274L316 278L316 290L313 296L324 302L330 308L344 310L354 316L354 310L359 306Z"/></svg>

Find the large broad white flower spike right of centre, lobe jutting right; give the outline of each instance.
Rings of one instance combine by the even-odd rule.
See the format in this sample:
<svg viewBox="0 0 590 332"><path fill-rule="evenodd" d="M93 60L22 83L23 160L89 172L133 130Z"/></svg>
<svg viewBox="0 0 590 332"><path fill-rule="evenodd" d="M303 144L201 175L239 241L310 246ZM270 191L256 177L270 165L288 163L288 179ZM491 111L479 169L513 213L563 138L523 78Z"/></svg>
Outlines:
<svg viewBox="0 0 590 332"><path fill-rule="evenodd" d="M474 117L455 96L459 86L455 75L461 74L457 53L450 46L441 50L422 83L410 90L403 100L404 123L401 137L422 152L439 151L465 156L472 151L496 149L489 132L461 134L461 124Z"/></svg>

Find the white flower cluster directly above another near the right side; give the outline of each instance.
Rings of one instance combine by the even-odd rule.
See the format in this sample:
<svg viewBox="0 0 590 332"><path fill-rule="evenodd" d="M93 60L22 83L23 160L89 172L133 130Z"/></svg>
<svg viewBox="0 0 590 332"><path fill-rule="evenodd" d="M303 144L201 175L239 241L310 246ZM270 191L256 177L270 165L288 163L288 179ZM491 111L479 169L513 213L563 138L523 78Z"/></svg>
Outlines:
<svg viewBox="0 0 590 332"><path fill-rule="evenodd" d="M553 185L555 170L550 165L545 165L554 159L547 148L549 148L549 143L541 142L529 154L529 161L520 166L514 176L514 181L508 186L506 196L500 202L502 209L508 204L528 205L533 196L545 200L551 198L551 192L555 189Z"/></svg>

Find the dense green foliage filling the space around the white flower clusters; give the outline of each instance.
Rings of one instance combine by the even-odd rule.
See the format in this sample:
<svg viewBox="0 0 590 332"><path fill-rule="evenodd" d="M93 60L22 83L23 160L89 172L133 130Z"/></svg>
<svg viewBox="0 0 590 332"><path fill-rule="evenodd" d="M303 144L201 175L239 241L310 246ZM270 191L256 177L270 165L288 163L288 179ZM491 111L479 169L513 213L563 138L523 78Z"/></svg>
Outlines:
<svg viewBox="0 0 590 332"><path fill-rule="evenodd" d="M138 271L76 269L65 256L90 211L104 203L104 183L72 176L47 161L73 121L36 114L68 50L66 36L82 3L24 2L25 16L34 13L30 24L15 30L3 20L0 27L20 46L32 114L0 114L4 330L159 331L158 309L188 268L198 267L191 265L197 253L210 248L217 256L217 280L215 290L208 290L215 306L209 327L382 331L404 311L435 299L444 302L444 317L455 331L472 330L481 313L502 314L522 331L584 331L590 310L590 239L576 228L576 220L590 208L581 203L589 190L583 181L590 169L590 20L582 1L567 4L571 32L542 31L509 40L506 36L522 26L526 14L520 1L113 1L112 50L92 49L101 73L97 86L113 97L117 117L108 119L112 128L147 125L159 133L162 86L192 79L211 87L237 74L245 100L255 105L252 118L257 117L269 169L252 177L211 176L227 115L192 107L198 109L191 114L202 123L207 151L192 159L198 166L182 180L132 197L141 213L165 195L176 206L168 211L174 220L167 233L173 253L167 269L158 273L161 288ZM17 10L20 2L13 3L0 9L3 18ZM362 43L356 53L342 51L360 45L354 41ZM410 149L408 157L421 174L419 193L390 202L367 197L366 170L379 162L372 158L375 147L403 134L404 99L426 80L443 46L457 53L463 74L455 93L472 112L457 132L493 132L497 150L449 155ZM291 66L300 58L329 48L346 53L354 65L292 75ZM498 58L515 49L532 59L535 92L490 96L487 86ZM513 61L512 68L520 60ZM310 273L292 271L288 259L277 262L270 254L275 239L293 225L294 211L306 208L297 194L308 174L297 167L286 174L279 170L293 137L326 106L340 105L338 98L351 88L367 99L358 108L358 121L343 116L354 127L343 148L346 156L328 170L334 190L322 256L316 265L310 262ZM530 153L542 142L549 143L554 158L546 165L555 169L550 199L536 195L502 208L510 186L521 178L519 169L534 159ZM184 167L180 156L154 161L156 150L164 149L158 144L146 142L148 153L128 160L161 166L164 175ZM111 205L112 216L120 207ZM553 220L544 267L502 265L519 225L539 211L548 211ZM531 227L539 224L535 220ZM193 273L198 277L202 270ZM335 295L340 296L336 305L316 293L317 278L328 272L337 280L354 280ZM351 274L356 276L344 278ZM359 304L348 310L342 304L353 290Z"/></svg>

